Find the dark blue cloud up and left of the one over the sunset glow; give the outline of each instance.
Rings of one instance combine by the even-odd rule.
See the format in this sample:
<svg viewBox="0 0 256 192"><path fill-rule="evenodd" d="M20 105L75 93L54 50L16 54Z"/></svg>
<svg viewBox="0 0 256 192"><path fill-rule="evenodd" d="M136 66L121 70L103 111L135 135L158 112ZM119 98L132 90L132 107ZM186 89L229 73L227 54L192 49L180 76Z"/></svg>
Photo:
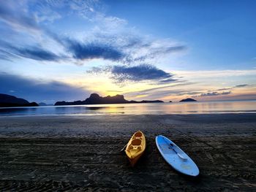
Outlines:
<svg viewBox="0 0 256 192"><path fill-rule="evenodd" d="M102 58L111 61L118 61L124 57L124 54L117 48L101 43L85 44L75 40L67 40L67 49L73 54L74 58L81 60Z"/></svg>

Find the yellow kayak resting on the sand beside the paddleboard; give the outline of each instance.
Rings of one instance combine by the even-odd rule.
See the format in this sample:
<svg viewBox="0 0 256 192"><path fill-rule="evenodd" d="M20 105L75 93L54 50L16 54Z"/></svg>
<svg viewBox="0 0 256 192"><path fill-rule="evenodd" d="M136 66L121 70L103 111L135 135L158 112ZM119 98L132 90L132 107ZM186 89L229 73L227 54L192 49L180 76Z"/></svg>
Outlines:
<svg viewBox="0 0 256 192"><path fill-rule="evenodd" d="M141 131L135 132L132 138L129 139L125 153L129 158L129 162L132 166L136 164L141 155L143 155L146 149L146 138Z"/></svg>

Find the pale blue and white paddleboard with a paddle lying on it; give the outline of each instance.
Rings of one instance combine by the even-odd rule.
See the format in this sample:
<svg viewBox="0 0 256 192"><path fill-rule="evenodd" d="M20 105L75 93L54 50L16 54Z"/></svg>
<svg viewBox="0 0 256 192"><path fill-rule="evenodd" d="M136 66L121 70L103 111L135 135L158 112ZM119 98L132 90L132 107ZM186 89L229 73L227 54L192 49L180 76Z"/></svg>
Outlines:
<svg viewBox="0 0 256 192"><path fill-rule="evenodd" d="M199 169L194 161L170 139L159 135L156 137L156 143L159 152L173 169L194 177L199 174Z"/></svg>

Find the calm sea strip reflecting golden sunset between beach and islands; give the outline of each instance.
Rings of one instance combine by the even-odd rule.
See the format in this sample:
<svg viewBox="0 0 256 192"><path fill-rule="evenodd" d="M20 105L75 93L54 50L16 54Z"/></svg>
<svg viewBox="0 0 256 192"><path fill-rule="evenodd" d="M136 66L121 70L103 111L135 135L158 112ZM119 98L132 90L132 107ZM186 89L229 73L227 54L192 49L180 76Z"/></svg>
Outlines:
<svg viewBox="0 0 256 192"><path fill-rule="evenodd" d="M157 104L94 104L1 108L0 116L22 115L146 115L256 113L256 101L201 101Z"/></svg>

